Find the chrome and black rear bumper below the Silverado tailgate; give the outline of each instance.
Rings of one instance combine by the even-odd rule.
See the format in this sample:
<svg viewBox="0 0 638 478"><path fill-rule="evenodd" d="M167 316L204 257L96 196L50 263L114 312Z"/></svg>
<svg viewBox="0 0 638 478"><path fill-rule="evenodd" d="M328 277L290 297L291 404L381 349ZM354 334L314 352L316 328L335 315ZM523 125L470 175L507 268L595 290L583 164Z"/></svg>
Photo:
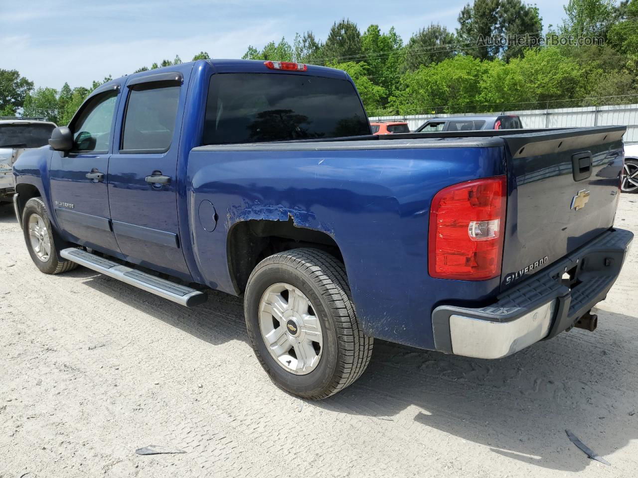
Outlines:
<svg viewBox="0 0 638 478"><path fill-rule="evenodd" d="M567 330L607 296L633 238L630 231L611 229L487 307L436 307L432 314L436 350L495 359ZM561 280L567 271L574 275L572 286Z"/></svg>

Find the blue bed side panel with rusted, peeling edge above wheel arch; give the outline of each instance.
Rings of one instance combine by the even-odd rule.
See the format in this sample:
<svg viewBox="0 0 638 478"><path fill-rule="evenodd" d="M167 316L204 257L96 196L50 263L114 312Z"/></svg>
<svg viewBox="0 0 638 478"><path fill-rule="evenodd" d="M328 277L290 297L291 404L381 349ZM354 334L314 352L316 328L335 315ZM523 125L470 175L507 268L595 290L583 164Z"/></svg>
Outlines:
<svg viewBox="0 0 638 478"><path fill-rule="evenodd" d="M447 185L505 173L504 161L502 147L193 150L186 198L198 274L207 285L235 293L225 254L228 231L249 219L292 218L338 244L367 334L433 349L436 303L484 300L499 280L429 277L431 199ZM219 215L212 232L197 221L205 199Z"/></svg>

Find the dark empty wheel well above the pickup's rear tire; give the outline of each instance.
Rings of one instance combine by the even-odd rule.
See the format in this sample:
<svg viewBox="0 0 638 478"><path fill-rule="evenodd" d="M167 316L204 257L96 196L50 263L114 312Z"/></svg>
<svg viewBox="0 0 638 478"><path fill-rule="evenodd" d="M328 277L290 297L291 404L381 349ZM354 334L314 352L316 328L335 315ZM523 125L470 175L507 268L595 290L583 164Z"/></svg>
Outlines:
<svg viewBox="0 0 638 478"><path fill-rule="evenodd" d="M334 239L323 231L295 226L288 221L249 220L235 224L226 242L228 271L238 294L244 292L248 277L265 257L277 252L313 247L328 252L343 262Z"/></svg>

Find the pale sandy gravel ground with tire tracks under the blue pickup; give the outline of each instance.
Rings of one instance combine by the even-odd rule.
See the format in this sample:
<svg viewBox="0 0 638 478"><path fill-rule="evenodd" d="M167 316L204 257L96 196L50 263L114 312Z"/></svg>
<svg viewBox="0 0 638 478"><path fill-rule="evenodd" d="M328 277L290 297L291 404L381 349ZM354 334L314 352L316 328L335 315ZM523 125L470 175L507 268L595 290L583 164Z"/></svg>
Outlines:
<svg viewBox="0 0 638 478"><path fill-rule="evenodd" d="M638 196L616 224L638 233ZM638 247L598 330L496 361L375 342L323 402L271 384L239 299L44 275L0 208L0 477L635 477ZM588 459L565 428L610 463ZM184 454L138 456L149 444Z"/></svg>

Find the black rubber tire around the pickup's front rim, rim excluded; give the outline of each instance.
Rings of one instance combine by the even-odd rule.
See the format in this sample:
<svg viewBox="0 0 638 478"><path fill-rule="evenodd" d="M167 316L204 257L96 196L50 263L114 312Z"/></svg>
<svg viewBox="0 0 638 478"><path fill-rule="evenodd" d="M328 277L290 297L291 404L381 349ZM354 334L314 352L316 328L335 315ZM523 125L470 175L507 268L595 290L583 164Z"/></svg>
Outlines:
<svg viewBox="0 0 638 478"><path fill-rule="evenodd" d="M50 254L48 254L48 258L45 261L38 257L38 254L31 244L31 238L29 237L29 218L34 214L38 214L47 226L46 234L48 235L50 243ZM48 218L47 205L45 205L42 199L31 198L27 201L26 205L24 205L24 211L22 211L22 232L24 233L24 242L27 244L27 250L29 250L31 260L41 272L45 274L59 274L77 267L76 263L60 257L60 251L66 247L71 247L71 245L64 242L52 228L51 221Z"/></svg>

